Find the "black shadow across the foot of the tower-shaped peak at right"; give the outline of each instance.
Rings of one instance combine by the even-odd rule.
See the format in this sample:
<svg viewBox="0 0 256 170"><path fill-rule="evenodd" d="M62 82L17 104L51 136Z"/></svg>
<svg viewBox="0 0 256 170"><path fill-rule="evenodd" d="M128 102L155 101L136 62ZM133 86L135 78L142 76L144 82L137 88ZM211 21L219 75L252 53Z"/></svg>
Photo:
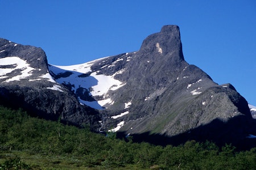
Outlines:
<svg viewBox="0 0 256 170"><path fill-rule="evenodd" d="M245 126L246 125L246 126ZM250 150L256 147L256 120L246 116L236 116L229 121L223 122L216 118L206 125L200 125L184 133L172 137L166 134L151 134L149 131L141 134L131 134L133 142L148 142L153 145L173 145L179 146L187 141L195 140L197 142L214 142L218 147L225 144L232 144L238 151ZM122 138L125 134L118 133ZM253 137L250 137L253 135Z"/></svg>

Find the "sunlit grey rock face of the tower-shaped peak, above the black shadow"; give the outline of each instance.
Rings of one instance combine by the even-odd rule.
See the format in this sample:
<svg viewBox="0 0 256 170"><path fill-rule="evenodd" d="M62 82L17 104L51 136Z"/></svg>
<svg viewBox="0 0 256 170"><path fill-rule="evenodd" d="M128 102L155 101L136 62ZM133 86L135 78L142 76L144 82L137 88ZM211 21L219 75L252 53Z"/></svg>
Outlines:
<svg viewBox="0 0 256 170"><path fill-rule="evenodd" d="M173 136L216 118L224 122L239 115L251 118L246 100L231 84L219 86L204 71L184 61L175 25L148 36L124 67L117 78L126 86L110 94L114 101L132 103L129 114L118 118L125 121L119 131ZM108 111L116 108L120 107L113 104Z"/></svg>

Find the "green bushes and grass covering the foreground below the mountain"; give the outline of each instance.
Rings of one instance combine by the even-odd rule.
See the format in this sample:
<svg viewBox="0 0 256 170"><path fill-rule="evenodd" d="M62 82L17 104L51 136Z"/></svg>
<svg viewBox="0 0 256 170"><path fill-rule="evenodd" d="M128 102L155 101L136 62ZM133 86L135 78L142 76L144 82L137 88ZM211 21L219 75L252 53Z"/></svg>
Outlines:
<svg viewBox="0 0 256 170"><path fill-rule="evenodd" d="M0 169L256 169L256 148L154 146L0 107Z"/></svg>

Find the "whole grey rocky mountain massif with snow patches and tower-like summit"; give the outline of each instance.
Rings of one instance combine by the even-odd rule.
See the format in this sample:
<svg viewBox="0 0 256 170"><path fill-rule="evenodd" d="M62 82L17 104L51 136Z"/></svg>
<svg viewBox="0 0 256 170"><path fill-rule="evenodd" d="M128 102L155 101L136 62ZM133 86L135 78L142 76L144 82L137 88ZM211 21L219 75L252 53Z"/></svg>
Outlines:
<svg viewBox="0 0 256 170"><path fill-rule="evenodd" d="M176 25L148 36L137 52L73 66L48 65L40 48L0 43L1 104L160 145L255 143L247 138L256 134L247 101L185 61Z"/></svg>

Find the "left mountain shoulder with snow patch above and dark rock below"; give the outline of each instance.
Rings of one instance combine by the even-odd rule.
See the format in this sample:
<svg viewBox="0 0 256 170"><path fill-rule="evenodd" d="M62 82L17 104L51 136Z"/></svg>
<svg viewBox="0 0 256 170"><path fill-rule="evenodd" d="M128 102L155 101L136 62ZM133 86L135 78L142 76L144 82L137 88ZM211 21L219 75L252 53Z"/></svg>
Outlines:
<svg viewBox="0 0 256 170"><path fill-rule="evenodd" d="M0 104L75 125L98 126L97 113L55 82L40 48L0 39Z"/></svg>

